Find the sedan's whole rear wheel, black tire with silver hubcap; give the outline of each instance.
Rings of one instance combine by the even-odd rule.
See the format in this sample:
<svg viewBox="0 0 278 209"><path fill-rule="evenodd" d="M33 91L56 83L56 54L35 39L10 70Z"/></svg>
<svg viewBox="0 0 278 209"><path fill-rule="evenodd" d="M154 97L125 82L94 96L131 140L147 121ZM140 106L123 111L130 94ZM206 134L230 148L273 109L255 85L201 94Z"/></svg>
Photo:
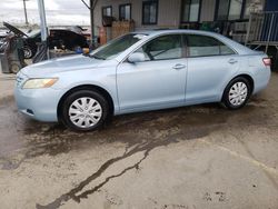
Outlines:
<svg viewBox="0 0 278 209"><path fill-rule="evenodd" d="M244 77L238 77L231 80L226 87L222 96L222 103L228 109L237 110L247 103L250 94L250 82Z"/></svg>

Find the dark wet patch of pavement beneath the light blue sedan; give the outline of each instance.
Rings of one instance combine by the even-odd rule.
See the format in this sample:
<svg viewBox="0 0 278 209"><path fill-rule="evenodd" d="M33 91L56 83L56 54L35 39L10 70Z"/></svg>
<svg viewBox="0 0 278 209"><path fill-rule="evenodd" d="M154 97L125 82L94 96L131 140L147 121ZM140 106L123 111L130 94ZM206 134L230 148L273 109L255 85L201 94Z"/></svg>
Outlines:
<svg viewBox="0 0 278 209"><path fill-rule="evenodd" d="M159 138L190 140L225 127L228 120L241 123L266 120L267 116L260 113L264 108L251 103L238 111L229 111L218 104L202 104L132 113L115 117L99 131L73 132L60 125L23 117L18 113L13 99L8 99L0 103L0 117L4 118L0 125L0 165L1 159L4 161L18 152L33 158L89 149L101 143L122 142L129 148Z"/></svg>

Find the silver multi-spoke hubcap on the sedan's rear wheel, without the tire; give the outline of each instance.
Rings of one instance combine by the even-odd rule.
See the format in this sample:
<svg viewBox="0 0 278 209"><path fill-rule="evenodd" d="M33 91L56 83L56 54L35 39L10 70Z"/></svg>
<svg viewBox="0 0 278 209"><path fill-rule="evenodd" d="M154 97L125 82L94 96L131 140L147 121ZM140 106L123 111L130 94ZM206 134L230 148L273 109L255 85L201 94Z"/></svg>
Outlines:
<svg viewBox="0 0 278 209"><path fill-rule="evenodd" d="M248 89L246 83L236 82L229 91L229 101L234 106L240 106L247 99Z"/></svg>

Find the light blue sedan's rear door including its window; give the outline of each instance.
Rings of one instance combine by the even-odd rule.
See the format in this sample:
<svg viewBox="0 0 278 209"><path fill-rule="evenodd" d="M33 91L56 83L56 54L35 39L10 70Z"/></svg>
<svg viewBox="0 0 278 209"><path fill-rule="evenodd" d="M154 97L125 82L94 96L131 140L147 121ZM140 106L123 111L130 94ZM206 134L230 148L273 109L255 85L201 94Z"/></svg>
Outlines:
<svg viewBox="0 0 278 209"><path fill-rule="evenodd" d="M212 37L187 34L185 38L188 54L187 104L218 101L224 86L238 70L240 57Z"/></svg>

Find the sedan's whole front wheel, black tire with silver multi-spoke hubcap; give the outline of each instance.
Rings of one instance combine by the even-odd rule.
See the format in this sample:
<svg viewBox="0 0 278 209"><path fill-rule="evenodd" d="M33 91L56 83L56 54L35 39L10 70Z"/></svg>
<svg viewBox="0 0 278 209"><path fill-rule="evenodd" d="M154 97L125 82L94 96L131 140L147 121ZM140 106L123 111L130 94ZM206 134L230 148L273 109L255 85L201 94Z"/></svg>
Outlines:
<svg viewBox="0 0 278 209"><path fill-rule="evenodd" d="M92 131L105 125L109 104L98 91L78 90L66 98L61 107L61 121L76 131Z"/></svg>

